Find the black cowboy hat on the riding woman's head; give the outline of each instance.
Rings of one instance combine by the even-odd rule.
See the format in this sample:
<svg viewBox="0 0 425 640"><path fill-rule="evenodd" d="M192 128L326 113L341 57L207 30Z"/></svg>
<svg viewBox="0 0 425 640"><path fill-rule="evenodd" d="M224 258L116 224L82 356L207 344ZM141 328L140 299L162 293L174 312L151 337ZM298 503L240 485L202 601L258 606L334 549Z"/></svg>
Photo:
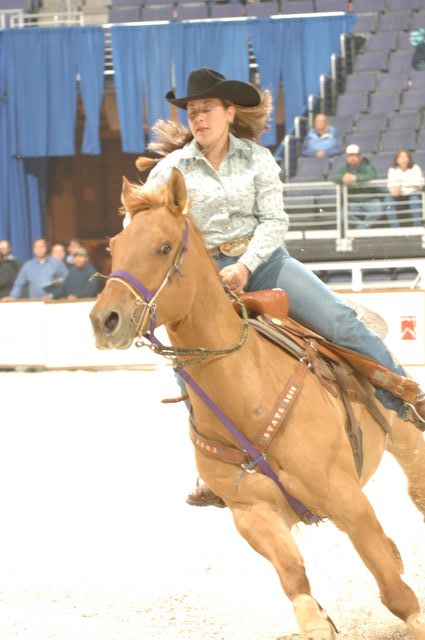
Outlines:
<svg viewBox="0 0 425 640"><path fill-rule="evenodd" d="M221 73L202 67L190 72L187 80L187 96L176 98L174 91L168 91L165 99L176 107L187 108L190 100L201 98L221 98L241 107L256 107L260 104L260 94L255 87L240 80L227 80Z"/></svg>

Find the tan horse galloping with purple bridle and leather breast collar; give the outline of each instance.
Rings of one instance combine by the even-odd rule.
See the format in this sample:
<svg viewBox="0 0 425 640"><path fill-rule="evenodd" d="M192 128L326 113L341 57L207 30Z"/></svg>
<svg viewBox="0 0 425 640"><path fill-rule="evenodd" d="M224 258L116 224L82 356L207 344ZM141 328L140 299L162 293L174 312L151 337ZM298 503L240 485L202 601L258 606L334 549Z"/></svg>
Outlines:
<svg viewBox="0 0 425 640"><path fill-rule="evenodd" d="M110 242L113 271L91 313L97 347L126 349L136 335L152 332L154 319L165 325L172 345L167 353L188 358L184 371L252 442L299 363L251 327L246 331L187 215L186 186L176 169L167 185L153 191L124 181L122 202L131 224ZM188 392L201 437L234 447L219 417L191 387ZM425 514L424 439L413 424L385 411L392 426L387 438L363 404L354 401L353 410L363 431L360 480L341 397L329 393L310 371L267 459L291 496L348 534L374 575L382 602L405 621L413 638L425 640L425 617L400 577L397 548L361 490L387 447L406 473L412 500ZM246 472L246 466L244 471L207 451L196 449L195 455L200 476L231 509L240 534L274 565L303 640L334 638L332 623L311 595L291 536L300 518L278 483L258 469Z"/></svg>

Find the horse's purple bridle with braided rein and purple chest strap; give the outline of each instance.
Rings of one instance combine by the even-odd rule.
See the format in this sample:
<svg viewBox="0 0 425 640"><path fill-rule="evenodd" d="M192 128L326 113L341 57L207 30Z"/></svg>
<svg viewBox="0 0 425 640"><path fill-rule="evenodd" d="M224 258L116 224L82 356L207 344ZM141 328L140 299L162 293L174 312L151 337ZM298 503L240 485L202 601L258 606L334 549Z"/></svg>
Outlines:
<svg viewBox="0 0 425 640"><path fill-rule="evenodd" d="M137 278L132 276L127 271L116 270L112 271L112 273L107 276L108 281L120 282L124 285L129 291L133 294L135 298L135 309L131 314L131 322L136 326L136 335L139 340L136 341L137 347L147 346L149 349L157 353L158 355L162 355L173 362L173 368L176 373L178 373L183 380L195 391L195 393L203 400L206 406L214 413L214 415L220 420L224 427L233 435L235 440L241 445L243 450L248 454L251 458L251 462L244 465L243 471L254 472L255 467L259 467L261 471L268 476L271 480L273 480L276 485L279 487L288 503L294 509L294 511L299 515L303 522L306 524L317 524L321 521L321 518L317 516L315 513L312 513L307 507L305 507L297 498L292 496L285 489L283 484L280 482L277 473L272 469L270 464L266 460L265 453L260 453L257 449L251 444L251 442L246 438L246 436L238 429L238 427L223 413L220 407L212 400L212 398L199 386L199 384L189 375L189 373L183 368L187 365L194 365L203 362L206 358L210 356L224 356L230 353L233 353L240 349L245 343L248 336L248 311L246 309L243 301L233 294L229 292L237 301L242 311L242 319L243 319L243 331L242 336L239 342L233 347L229 347L227 349L205 349L205 348L185 348L185 347L173 347L173 346L164 346L155 336L155 328L156 328L156 303L158 295L164 289L164 287L169 284L172 277L177 273L180 277L183 276L181 273L181 266L183 263L184 254L188 250L188 237L189 237L189 225L187 220L185 220L185 226L183 230L183 238L177 248L175 259L173 264L167 271L162 280L161 284L157 289L150 291L147 289L142 282L140 282ZM135 311L140 308L140 315L137 318L135 315ZM141 335L141 327L146 319L146 317L150 320L149 331L144 335ZM144 338L149 340L149 343L145 341ZM193 356L192 358L187 358L186 360L181 360L181 356Z"/></svg>

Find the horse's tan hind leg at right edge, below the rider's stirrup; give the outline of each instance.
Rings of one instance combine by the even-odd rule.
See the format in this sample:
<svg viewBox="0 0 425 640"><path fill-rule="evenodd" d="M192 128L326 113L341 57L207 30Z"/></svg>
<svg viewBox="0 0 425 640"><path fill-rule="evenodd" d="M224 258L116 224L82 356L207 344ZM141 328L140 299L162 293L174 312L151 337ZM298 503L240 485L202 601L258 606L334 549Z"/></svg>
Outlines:
<svg viewBox="0 0 425 640"><path fill-rule="evenodd" d="M396 420L387 450L394 456L407 477L409 496L425 517L425 440L411 422Z"/></svg>

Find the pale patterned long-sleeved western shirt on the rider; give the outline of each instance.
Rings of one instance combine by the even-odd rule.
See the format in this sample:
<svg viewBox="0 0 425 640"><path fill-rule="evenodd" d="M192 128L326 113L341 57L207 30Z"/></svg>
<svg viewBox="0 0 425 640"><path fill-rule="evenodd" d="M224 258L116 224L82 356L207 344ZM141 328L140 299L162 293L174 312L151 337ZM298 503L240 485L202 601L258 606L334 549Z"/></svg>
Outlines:
<svg viewBox="0 0 425 640"><path fill-rule="evenodd" d="M147 186L167 182L171 168L186 181L193 218L208 248L252 236L240 261L253 272L277 247L288 229L279 166L268 149L229 136L229 150L216 171L196 140L171 152L152 169Z"/></svg>

